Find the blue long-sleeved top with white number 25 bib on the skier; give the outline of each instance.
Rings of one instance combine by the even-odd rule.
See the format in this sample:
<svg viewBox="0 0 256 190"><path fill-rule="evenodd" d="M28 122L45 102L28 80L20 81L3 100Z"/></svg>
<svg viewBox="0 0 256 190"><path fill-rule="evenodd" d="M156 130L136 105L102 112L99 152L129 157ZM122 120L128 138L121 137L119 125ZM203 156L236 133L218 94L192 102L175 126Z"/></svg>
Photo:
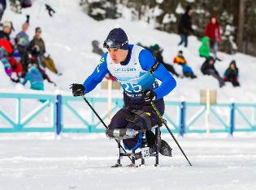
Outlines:
<svg viewBox="0 0 256 190"><path fill-rule="evenodd" d="M156 59L150 51L133 44L129 44L126 60L119 64L115 64L109 53L105 53L93 74L85 80L85 93L92 91L110 72L129 97L140 96L142 91L150 89L155 92L157 100L161 99L176 87L176 80L162 64L154 74L150 74L149 70L155 62ZM158 85L158 81L161 85Z"/></svg>

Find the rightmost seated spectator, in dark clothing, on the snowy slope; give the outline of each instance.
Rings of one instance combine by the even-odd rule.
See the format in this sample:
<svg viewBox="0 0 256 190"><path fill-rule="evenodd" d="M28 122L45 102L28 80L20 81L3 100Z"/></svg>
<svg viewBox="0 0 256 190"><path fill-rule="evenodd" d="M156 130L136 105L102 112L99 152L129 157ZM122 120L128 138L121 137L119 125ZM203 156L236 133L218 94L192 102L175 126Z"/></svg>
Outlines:
<svg viewBox="0 0 256 190"><path fill-rule="evenodd" d="M238 68L236 67L236 61L231 61L228 69L224 73L224 81L231 82L233 87L240 87L238 82Z"/></svg>

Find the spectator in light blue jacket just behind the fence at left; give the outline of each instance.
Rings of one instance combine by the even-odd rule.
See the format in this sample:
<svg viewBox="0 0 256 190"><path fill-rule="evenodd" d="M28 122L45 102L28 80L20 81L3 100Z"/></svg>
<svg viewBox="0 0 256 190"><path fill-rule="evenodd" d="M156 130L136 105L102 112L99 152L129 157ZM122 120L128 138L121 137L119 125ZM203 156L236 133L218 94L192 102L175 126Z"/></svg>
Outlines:
<svg viewBox="0 0 256 190"><path fill-rule="evenodd" d="M28 64L28 72L22 84L25 85L28 81L30 82L30 89L44 91L43 77L36 64Z"/></svg>

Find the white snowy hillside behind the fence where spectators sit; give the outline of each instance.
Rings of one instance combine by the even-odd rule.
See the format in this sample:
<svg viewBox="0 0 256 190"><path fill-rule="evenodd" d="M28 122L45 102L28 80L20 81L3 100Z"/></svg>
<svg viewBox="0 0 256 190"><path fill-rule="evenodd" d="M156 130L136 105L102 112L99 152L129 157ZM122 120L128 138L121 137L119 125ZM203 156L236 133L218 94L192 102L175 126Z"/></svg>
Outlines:
<svg viewBox="0 0 256 190"><path fill-rule="evenodd" d="M50 18L45 11L44 2L42 0L35 1L32 8L23 11L23 15L17 15L7 10L2 20L11 19L16 32L18 32L24 22L25 15L31 15L31 27L28 30L31 38L33 37L34 28L41 26L42 36L46 42L46 50L54 58L63 75L58 77L51 74L50 71L48 73L62 91L68 91L68 86L72 82L84 82L85 78L89 76L98 64L98 55L91 53L91 41L99 40L103 42L107 33L113 27L123 27L131 44L137 44L137 42L145 45L157 43L163 47L163 57L167 62L173 60L178 50L182 49L184 51L184 57L189 62L189 65L193 67L198 78L194 80L176 78L178 86L166 99L180 100L181 97L184 97L186 100L199 101L199 91L209 88L218 90L219 102L229 102L230 99L235 99L237 102L256 102L256 88L254 86L256 75L253 74L256 70L255 57L241 53L236 53L235 55L219 53L219 57L223 60L216 64L219 73L223 74L230 61L235 59L240 69L241 81L241 87L239 88L233 88L228 83L225 87L219 89L219 84L215 78L201 74L200 66L204 59L197 56L197 49L201 43L194 36L189 37L189 48L184 49L177 47L180 37L176 34L154 30L140 21L130 21L129 19L95 21L81 11L81 7L78 6L78 0L48 0L47 3L57 11L54 17ZM176 70L181 72L179 65L175 65L175 67ZM0 67L0 76L0 89L22 91L24 88L9 82L2 65ZM27 85L26 89L28 88ZM46 91L55 91L56 89L56 87L46 83ZM97 90L93 91L91 95L102 95L102 90L97 87ZM121 93L118 92L116 95L119 96Z"/></svg>

